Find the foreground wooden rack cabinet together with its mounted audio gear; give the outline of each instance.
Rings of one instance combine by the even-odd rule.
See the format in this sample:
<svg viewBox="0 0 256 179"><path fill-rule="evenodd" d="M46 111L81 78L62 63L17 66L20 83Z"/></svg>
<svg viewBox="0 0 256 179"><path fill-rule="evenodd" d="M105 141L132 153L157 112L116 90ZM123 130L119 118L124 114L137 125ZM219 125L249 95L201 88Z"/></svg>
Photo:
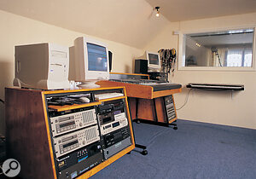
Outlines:
<svg viewBox="0 0 256 179"><path fill-rule="evenodd" d="M109 92L123 93L124 96L96 101L96 94ZM89 95L90 102L63 106L50 103L51 99L54 98L65 99L65 97L76 95ZM5 96L7 154L10 158L20 162L20 176L22 178L66 178L67 176L67 178L75 176L88 178L125 153L131 152L135 147L124 87L80 90L6 88ZM119 106L116 105L116 109L113 107L111 109L113 111L108 112L109 115L113 115L111 120L106 117L105 121L102 122L99 120L99 113L106 105L108 108L108 104L111 107L121 104L123 108L119 109ZM85 122L79 123L80 117L77 118L75 115L82 116L88 110L95 113L96 121L88 125ZM63 118L53 121L56 117ZM61 120L62 122L67 120L68 123L61 123ZM114 132L119 132L114 127L120 126L122 123L125 123L125 127L116 127L116 129L122 130L123 133L125 130L126 136L123 136L125 140L112 139L119 144L125 142L125 147L113 149L114 142L108 143L108 139L114 136ZM107 124L111 130L106 130L106 132L103 130ZM89 136L86 136L87 130L90 129L96 129L96 133L90 133ZM96 138L93 139L96 141L86 139L92 135L96 135ZM127 135L129 140L127 140ZM67 143L65 140L71 141ZM88 142L88 145L85 141ZM111 150L109 153L113 154L108 154L106 157L108 150ZM89 163L90 165L88 165Z"/></svg>

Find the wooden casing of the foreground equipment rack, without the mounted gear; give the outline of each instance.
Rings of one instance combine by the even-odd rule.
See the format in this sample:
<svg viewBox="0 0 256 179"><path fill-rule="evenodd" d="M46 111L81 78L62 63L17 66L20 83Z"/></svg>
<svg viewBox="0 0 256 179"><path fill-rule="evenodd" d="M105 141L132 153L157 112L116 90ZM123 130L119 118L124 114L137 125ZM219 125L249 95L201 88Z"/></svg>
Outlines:
<svg viewBox="0 0 256 179"><path fill-rule="evenodd" d="M122 91L124 96L92 101L81 105L48 106L47 95L67 95L79 93ZM55 162L55 153L51 132L49 131L48 110L67 111L79 107L97 106L104 101L125 99L125 111L131 134L131 146L126 147L99 165L79 175L78 178L88 178L104 167L112 164L115 160L130 153L135 147L131 128L131 117L124 87L108 87L99 89L77 90L27 90L19 88L6 88L6 141L7 154L9 157L20 162L21 178L58 178Z"/></svg>

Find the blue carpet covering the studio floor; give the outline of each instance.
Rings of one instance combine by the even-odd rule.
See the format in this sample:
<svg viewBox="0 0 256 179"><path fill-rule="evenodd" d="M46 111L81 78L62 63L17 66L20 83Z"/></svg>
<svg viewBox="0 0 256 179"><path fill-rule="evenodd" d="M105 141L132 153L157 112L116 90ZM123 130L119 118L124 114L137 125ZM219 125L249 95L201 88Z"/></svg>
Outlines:
<svg viewBox="0 0 256 179"><path fill-rule="evenodd" d="M256 130L187 120L177 130L133 125L148 155L132 151L90 178L256 178Z"/></svg>

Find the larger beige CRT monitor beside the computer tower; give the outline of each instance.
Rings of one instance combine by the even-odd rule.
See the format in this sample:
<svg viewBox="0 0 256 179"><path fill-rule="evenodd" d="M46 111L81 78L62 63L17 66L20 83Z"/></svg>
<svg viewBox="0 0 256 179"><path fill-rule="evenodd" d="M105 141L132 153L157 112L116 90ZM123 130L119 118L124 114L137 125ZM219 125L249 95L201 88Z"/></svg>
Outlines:
<svg viewBox="0 0 256 179"><path fill-rule="evenodd" d="M82 82L86 87L97 87L98 80L108 80L108 47L92 38L74 40L73 57L70 64L70 79Z"/></svg>

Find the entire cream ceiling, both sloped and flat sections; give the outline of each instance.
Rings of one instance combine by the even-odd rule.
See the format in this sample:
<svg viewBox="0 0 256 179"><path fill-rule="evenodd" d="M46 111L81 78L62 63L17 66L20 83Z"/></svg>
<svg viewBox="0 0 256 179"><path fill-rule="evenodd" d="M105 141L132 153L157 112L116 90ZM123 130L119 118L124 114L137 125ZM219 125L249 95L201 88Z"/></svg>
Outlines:
<svg viewBox="0 0 256 179"><path fill-rule="evenodd" d="M256 0L0 0L0 9L143 49L170 22L256 12Z"/></svg>

